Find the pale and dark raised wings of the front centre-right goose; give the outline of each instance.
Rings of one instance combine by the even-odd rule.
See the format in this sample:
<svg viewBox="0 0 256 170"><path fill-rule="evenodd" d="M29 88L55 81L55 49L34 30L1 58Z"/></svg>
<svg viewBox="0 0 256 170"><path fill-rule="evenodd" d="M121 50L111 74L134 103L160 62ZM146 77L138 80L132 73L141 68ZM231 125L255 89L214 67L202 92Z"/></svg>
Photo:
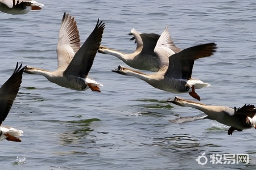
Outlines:
<svg viewBox="0 0 256 170"><path fill-rule="evenodd" d="M160 65L167 65L165 76L175 79L191 79L196 59L212 56L216 52L216 44L196 45L184 50L177 50L168 32L168 27L159 37L154 52L160 59ZM176 51L175 51L176 50Z"/></svg>

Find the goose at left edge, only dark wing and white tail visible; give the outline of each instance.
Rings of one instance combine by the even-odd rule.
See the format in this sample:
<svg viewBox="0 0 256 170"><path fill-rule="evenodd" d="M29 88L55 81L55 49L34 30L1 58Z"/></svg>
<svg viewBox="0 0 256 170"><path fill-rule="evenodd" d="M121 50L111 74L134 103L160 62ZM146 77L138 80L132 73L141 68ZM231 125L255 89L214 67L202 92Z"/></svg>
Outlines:
<svg viewBox="0 0 256 170"><path fill-rule="evenodd" d="M22 130L17 130L9 126L2 126L3 121L10 112L13 101L18 94L20 84L22 82L22 74L24 67L22 64L14 70L13 75L2 85L0 88L0 141L6 139L7 141L21 142L22 140L18 138L23 135Z"/></svg>

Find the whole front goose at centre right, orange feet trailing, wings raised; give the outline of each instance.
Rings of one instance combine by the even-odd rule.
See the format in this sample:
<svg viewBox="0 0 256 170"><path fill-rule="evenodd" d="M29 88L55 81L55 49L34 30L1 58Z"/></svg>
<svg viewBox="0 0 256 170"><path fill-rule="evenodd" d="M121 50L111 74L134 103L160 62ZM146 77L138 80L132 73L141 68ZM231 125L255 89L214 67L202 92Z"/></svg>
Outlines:
<svg viewBox="0 0 256 170"><path fill-rule="evenodd" d="M174 53L170 49L171 41L168 38L167 32L168 29L165 29L154 50L160 59L160 65L162 65L157 73L144 74L120 65L112 71L123 75L135 76L160 90L172 93L189 92L189 95L200 100L200 96L196 94L195 88L207 87L210 84L191 78L193 64L195 59L212 56L216 52L216 44L208 43L192 46Z"/></svg>

